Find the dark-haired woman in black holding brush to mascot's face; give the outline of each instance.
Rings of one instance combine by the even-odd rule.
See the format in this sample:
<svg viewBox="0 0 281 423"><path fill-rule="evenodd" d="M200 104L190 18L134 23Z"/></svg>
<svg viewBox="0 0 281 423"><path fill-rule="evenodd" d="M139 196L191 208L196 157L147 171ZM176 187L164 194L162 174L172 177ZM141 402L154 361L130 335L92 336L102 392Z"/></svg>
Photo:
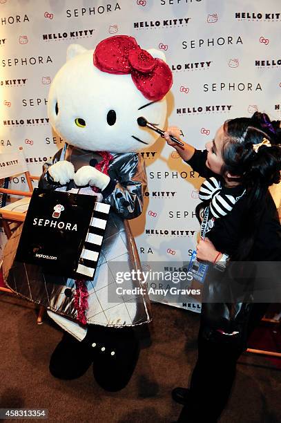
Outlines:
<svg viewBox="0 0 281 423"><path fill-rule="evenodd" d="M196 209L201 222L196 252L198 260L215 263L212 269L227 269L234 261L281 261L281 226L268 189L280 182L279 127L279 121L258 112L252 118L228 120L205 151L173 142L169 135L178 136L173 128L164 135L182 159L207 178L200 188L203 202ZM224 278L222 274L221 285ZM172 393L184 405L177 422L217 422L231 393L236 362L267 310L266 303L212 304L208 296L214 290L206 282L191 385Z"/></svg>

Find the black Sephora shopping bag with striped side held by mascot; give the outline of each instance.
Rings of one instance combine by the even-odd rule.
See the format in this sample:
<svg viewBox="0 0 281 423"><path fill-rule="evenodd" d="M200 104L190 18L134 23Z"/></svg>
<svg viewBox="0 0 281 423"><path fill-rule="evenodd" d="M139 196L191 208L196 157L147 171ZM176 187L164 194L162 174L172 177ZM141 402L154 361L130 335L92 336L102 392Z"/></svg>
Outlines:
<svg viewBox="0 0 281 423"><path fill-rule="evenodd" d="M93 279L109 209L97 196L35 188L16 260L46 273Z"/></svg>

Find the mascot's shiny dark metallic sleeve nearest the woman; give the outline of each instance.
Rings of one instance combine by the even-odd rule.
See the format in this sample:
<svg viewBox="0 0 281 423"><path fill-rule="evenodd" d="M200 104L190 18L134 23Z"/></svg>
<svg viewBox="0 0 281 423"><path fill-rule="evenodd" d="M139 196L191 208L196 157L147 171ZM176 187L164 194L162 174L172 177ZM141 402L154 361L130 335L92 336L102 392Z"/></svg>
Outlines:
<svg viewBox="0 0 281 423"><path fill-rule="evenodd" d="M103 203L124 219L133 219L142 213L144 191L146 190L146 168L142 156L136 153L125 155L125 160L110 169L110 182L101 191ZM120 160L120 159L119 159Z"/></svg>

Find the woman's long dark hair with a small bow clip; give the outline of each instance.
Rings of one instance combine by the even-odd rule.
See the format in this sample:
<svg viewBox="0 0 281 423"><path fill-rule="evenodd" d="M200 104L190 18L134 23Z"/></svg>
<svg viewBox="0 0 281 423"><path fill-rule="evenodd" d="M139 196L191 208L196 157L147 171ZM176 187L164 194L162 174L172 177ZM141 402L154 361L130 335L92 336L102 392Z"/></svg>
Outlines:
<svg viewBox="0 0 281 423"><path fill-rule="evenodd" d="M244 213L238 250L232 260L251 259L255 234L266 207L270 185L280 182L281 130L280 121L269 120L265 113L254 113L252 118L236 118L224 123L226 142L222 151L222 175L240 176L246 189ZM269 140L271 147L262 145L257 152L253 144ZM235 178L235 180L237 180Z"/></svg>

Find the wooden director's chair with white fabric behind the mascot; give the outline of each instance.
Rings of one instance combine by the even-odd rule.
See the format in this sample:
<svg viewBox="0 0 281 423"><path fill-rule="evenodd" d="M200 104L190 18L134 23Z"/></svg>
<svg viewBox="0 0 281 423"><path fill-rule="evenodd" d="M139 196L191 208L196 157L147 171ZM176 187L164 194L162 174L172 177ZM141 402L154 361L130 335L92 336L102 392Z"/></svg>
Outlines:
<svg viewBox="0 0 281 423"><path fill-rule="evenodd" d="M24 174L26 182L28 184L28 191L19 191L17 189L0 188L0 193L9 194L10 196L23 197L19 200L12 201L5 207L0 208L0 218L4 229L4 232L9 239L12 236L12 232L17 229L23 220L26 218L26 212L28 211L28 205L30 203L30 197L33 191L33 180L39 180L38 176L31 176L26 164L26 158L23 155L22 147L18 151L12 153L0 153L0 179L12 178L19 174ZM15 198L13 198L15 199ZM0 263L0 268L2 263ZM9 288L0 286L0 291L13 293ZM40 306L39 314L37 317L37 323L41 324L43 319L45 308Z"/></svg>

